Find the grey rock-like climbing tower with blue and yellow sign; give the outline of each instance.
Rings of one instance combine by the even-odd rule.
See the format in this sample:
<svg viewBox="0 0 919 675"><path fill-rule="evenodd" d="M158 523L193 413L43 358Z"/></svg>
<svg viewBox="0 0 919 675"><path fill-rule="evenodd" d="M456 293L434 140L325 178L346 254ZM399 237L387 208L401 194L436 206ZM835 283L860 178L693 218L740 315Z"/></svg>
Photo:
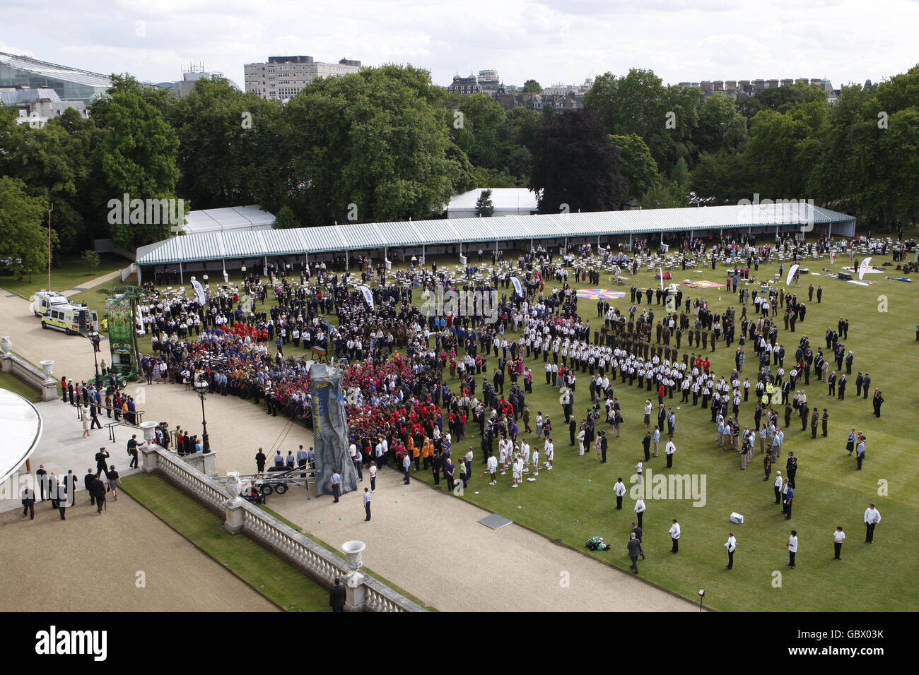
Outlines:
<svg viewBox="0 0 919 675"><path fill-rule="evenodd" d="M332 494L335 469L341 474L341 492L357 489L357 469L348 454L342 372L324 364L310 366L312 435L316 451L316 494Z"/></svg>

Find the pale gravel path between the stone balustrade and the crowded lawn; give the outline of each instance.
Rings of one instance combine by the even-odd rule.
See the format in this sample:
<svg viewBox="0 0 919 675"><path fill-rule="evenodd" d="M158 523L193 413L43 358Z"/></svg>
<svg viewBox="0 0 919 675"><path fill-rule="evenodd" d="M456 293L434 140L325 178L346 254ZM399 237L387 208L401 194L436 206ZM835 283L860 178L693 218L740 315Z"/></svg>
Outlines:
<svg viewBox="0 0 919 675"><path fill-rule="evenodd" d="M57 331L42 331L28 313L28 302L6 295L0 293L0 325L4 334L11 336L17 354L33 363L54 359L54 373L59 378L62 374L85 377L92 373L92 346L88 342ZM62 342L66 340L72 342ZM199 430L200 402L195 392L168 384L131 384L130 388L134 388L129 393L138 410L146 412L145 421ZM49 405L70 408L55 401ZM264 407L243 399L209 395L205 407L210 444L221 474L228 470L255 471L259 447L271 456L277 446L286 455L298 444L309 447L312 443L311 431L290 424L286 418L268 416ZM78 432L82 433L82 427ZM127 432L119 430L118 443L114 450L109 449L112 457L127 457ZM36 457L45 451L44 444L43 439ZM83 450L78 452L82 460ZM64 472L74 468L82 479L90 464L83 461L65 467ZM365 542L363 559L369 568L441 611L698 612L694 603L646 584L630 572L552 544L516 524L493 531L477 523L487 514L478 507L419 480L410 486L398 485L398 474L391 471L380 472L370 523L363 521L357 491L343 495L335 504L330 496L308 500L305 490L295 488L283 497L269 498L268 505L332 546L351 539ZM150 519L155 517L151 514ZM124 535L130 538L126 529ZM6 551L14 558L11 565L26 564L25 560L16 562L17 548L7 547ZM507 570L513 570L514 578L519 579L513 592L502 585ZM55 579L51 569L46 574L49 581Z"/></svg>

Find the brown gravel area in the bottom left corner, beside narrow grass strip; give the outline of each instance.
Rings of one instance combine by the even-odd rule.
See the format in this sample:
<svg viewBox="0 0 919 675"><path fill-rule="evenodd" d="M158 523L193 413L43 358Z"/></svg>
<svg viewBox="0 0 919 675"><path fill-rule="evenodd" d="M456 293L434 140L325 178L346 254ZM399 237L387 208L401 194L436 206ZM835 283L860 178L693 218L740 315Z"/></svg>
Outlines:
<svg viewBox="0 0 919 675"><path fill-rule="evenodd" d="M280 611L123 492L102 515L79 493L66 518L0 513L0 612Z"/></svg>

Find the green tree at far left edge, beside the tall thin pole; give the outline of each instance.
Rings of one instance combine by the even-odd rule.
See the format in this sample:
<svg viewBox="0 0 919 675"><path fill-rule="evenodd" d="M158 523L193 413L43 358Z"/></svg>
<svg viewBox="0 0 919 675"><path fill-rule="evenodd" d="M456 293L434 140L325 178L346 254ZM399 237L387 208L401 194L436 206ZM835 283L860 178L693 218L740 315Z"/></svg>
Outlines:
<svg viewBox="0 0 919 675"><path fill-rule="evenodd" d="M0 177L0 260L22 278L48 266L48 231L43 226L47 204L30 197L18 178ZM51 231L51 245L57 234Z"/></svg>

